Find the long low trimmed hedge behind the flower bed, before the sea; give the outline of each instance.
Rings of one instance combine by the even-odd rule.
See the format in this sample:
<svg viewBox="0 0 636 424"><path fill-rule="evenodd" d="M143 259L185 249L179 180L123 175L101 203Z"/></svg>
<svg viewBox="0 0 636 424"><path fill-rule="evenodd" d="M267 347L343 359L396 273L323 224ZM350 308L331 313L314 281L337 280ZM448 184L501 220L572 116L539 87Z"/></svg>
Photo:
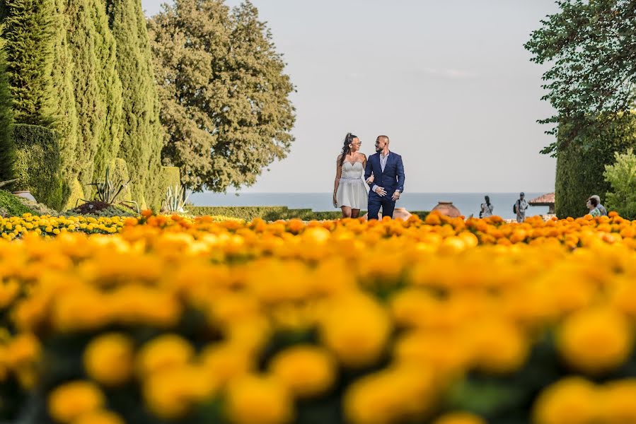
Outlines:
<svg viewBox="0 0 636 424"><path fill-rule="evenodd" d="M301 220L330 220L342 217L340 211L315 212L311 209L290 209L287 206L186 206L188 213L196 216L229 216L231 218L241 218L253 220L262 218L264 220L279 219L301 219ZM360 211L360 216L364 216L366 211ZM425 218L427 211L414 211L414 215Z"/></svg>

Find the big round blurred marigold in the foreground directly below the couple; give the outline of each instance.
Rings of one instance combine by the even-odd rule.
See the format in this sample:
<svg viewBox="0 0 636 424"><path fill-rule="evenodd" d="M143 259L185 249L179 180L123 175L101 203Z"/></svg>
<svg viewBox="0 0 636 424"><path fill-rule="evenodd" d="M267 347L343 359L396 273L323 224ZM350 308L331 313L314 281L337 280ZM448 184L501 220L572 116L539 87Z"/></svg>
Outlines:
<svg viewBox="0 0 636 424"><path fill-rule="evenodd" d="M347 295L326 308L320 323L325 346L347 367L364 367L380 358L391 333L386 310L366 295Z"/></svg>

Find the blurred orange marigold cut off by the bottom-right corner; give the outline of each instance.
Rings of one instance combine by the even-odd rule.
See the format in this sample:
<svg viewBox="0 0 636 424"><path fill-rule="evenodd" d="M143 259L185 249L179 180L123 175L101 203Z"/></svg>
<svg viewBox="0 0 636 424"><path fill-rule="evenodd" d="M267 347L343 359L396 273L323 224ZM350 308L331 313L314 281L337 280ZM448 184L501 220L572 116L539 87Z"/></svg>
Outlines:
<svg viewBox="0 0 636 424"><path fill-rule="evenodd" d="M599 408L603 424L636 423L636 379L623 379L601 387Z"/></svg>

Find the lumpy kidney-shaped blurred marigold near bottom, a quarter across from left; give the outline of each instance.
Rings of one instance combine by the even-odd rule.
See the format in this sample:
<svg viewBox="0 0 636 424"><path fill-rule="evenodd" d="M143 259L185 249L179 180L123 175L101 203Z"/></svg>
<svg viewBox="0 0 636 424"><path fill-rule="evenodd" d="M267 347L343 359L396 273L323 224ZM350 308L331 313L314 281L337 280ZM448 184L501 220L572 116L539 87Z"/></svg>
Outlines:
<svg viewBox="0 0 636 424"><path fill-rule="evenodd" d="M214 396L217 387L216 380L200 367L180 365L150 375L144 382L144 399L156 416L170 420Z"/></svg>

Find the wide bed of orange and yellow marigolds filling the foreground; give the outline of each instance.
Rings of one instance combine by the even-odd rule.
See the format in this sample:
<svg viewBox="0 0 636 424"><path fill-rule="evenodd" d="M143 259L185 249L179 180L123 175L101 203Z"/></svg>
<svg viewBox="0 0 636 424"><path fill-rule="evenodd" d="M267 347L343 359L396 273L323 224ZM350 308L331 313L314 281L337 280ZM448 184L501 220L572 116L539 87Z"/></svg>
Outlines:
<svg viewBox="0 0 636 424"><path fill-rule="evenodd" d="M636 221L11 219L7 420L636 419Z"/></svg>

